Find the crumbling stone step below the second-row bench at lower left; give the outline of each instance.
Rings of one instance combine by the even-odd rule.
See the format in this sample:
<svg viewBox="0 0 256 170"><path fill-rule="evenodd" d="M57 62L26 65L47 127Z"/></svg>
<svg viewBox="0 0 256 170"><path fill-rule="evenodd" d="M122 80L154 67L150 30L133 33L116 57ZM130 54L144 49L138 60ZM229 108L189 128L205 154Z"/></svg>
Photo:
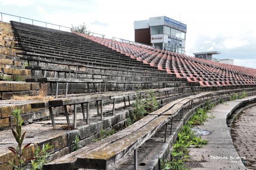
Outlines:
<svg viewBox="0 0 256 170"><path fill-rule="evenodd" d="M96 109L94 109L96 113ZM32 145L24 154L24 158L30 158L35 153L35 147L42 147L43 144L49 143L53 147L48 150L52 154L51 159L57 159L58 157L67 155L72 151L73 141L76 135L79 136L81 141L86 141L83 144L89 144L93 139L99 138L99 131L101 127L108 129L109 127L115 126L116 128L122 128L124 120L130 116L129 111L120 111L114 116L105 116L102 121L99 118L91 117L92 122L88 125L81 125L74 130L64 130L63 123L57 126L57 129L52 129L48 121L35 122L22 127L22 131L26 131L26 137L23 144L31 143ZM80 119L82 119L82 114L79 113ZM58 117L59 122L63 121L65 117ZM72 117L70 116L70 119ZM57 122L57 121L56 121ZM83 121L84 122L84 121ZM85 122L84 122L85 123ZM117 126L116 126L117 125ZM96 128L97 127L97 128ZM60 129L58 129L60 128ZM118 130L118 129L117 129ZM15 146L16 142L12 136L11 130L2 130L0 135L0 161L10 161L13 159L13 153L7 149L9 146ZM11 167L7 167L4 164L0 164L0 170L11 170Z"/></svg>

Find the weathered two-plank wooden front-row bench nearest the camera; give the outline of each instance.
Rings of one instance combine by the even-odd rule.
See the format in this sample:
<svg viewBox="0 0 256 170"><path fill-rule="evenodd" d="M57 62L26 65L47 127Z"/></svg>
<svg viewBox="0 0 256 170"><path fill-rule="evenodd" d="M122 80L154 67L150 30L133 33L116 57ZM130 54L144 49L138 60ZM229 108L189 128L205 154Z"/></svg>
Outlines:
<svg viewBox="0 0 256 170"><path fill-rule="evenodd" d="M180 112L181 108L182 104L179 104L166 111L165 115L152 114L145 116L112 136L45 164L44 170L63 168L70 170L79 168L107 169L119 159L128 156L132 151L134 151L135 169L137 167L137 147L153 136L160 127L163 125L167 127L167 123Z"/></svg>

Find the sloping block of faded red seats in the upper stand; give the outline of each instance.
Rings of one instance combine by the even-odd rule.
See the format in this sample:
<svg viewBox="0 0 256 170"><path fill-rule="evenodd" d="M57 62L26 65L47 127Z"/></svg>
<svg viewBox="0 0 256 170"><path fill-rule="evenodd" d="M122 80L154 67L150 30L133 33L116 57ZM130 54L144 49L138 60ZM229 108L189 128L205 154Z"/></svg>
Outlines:
<svg viewBox="0 0 256 170"><path fill-rule="evenodd" d="M78 34L78 33L76 33ZM212 62L204 59L148 48L126 42L117 42L106 38L79 34L90 40L116 50L131 59L167 71L177 78L186 78L188 82L199 82L203 87L230 87L255 85L256 69L236 65Z"/></svg>

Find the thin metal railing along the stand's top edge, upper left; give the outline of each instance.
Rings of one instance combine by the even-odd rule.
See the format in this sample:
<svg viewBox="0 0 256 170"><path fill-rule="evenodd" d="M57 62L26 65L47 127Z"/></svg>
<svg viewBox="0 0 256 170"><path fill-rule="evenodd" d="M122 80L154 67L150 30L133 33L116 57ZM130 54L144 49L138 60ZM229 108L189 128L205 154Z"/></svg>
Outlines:
<svg viewBox="0 0 256 170"><path fill-rule="evenodd" d="M6 14L6 13L3 13L3 12L0 12L0 14L1 14L1 21L2 22L9 22L8 18L16 17L18 19L16 21L18 21L20 23L26 23L26 22L21 22L21 20L29 20L31 22L28 23L28 24L32 24L32 25L35 25L35 26L43 26L43 27L46 27L46 28L50 28L49 26L55 26L55 28L52 28L52 29L57 29L57 30L60 30L60 31L67 31L68 30L67 32L70 32L71 30L78 30L78 29L75 29L75 28L70 28L70 27L66 27L66 26L60 26L60 25L57 25L57 24L47 23L47 22L44 22L44 21L33 20L33 19L30 19L30 18L20 17L20 16L17 16L17 15ZM3 20L3 16L8 16L7 17L7 21ZM36 25L36 23L41 23L41 25L40 24ZM61 29L61 28L64 28L65 30ZM105 35L103 35L103 34L98 34L98 33L90 32L90 31L85 31L85 32L86 32L85 34L88 34L88 35L101 36L102 38L105 37Z"/></svg>

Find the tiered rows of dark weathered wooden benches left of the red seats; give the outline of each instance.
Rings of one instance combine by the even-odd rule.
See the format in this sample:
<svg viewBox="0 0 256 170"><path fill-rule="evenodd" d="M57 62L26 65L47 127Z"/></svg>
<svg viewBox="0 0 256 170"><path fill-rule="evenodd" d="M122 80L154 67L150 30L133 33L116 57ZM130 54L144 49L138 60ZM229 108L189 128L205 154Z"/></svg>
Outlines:
<svg viewBox="0 0 256 170"><path fill-rule="evenodd" d="M55 93L56 98L58 94L67 97L67 94L73 93L128 91L138 85L153 89L191 88L192 84L196 85L195 82L167 74L165 69L159 70L160 66L156 68L125 57L121 51L114 51L79 35L25 23L11 23L17 45L25 51L19 57L29 61L26 68L32 70L34 77L26 79L26 82L50 83L48 94ZM155 53L162 55L161 51ZM148 54L145 53L141 59L146 56ZM155 62L164 63L166 59L159 58ZM77 85L79 83L81 85Z"/></svg>

